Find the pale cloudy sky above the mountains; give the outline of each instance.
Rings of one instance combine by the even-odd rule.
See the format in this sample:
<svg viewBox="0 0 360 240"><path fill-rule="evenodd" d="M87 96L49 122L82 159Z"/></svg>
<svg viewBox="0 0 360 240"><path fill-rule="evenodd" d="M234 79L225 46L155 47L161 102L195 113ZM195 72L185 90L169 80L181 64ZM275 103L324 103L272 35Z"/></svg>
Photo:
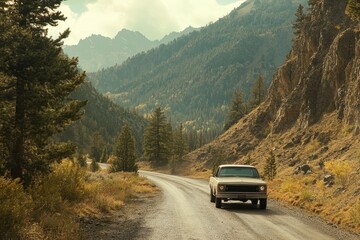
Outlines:
<svg viewBox="0 0 360 240"><path fill-rule="evenodd" d="M92 34L113 38L122 29L139 31L150 40L170 32L202 27L229 14L245 0L64 0L60 11L67 17L51 36L66 28L66 45L74 45Z"/></svg>

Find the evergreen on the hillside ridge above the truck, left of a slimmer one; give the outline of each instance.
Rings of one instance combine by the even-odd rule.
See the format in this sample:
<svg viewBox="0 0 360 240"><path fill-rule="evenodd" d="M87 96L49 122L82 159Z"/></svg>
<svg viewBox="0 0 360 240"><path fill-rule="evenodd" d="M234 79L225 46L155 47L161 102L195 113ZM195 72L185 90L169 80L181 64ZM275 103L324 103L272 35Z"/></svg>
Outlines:
<svg viewBox="0 0 360 240"><path fill-rule="evenodd" d="M233 95L230 112L227 116L224 130L229 129L232 125L237 123L247 114L247 112L247 107L243 100L243 93L240 90L236 90Z"/></svg>

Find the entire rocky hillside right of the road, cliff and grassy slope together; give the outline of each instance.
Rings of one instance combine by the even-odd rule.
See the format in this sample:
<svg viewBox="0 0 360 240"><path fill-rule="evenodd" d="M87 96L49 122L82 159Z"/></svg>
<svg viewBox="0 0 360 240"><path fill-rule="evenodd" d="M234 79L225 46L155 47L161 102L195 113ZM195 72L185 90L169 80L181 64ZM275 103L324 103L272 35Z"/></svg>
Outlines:
<svg viewBox="0 0 360 240"><path fill-rule="evenodd" d="M346 1L309 3L268 99L187 160L197 172L219 160L262 171L272 153L271 197L360 232L358 23L345 15Z"/></svg>

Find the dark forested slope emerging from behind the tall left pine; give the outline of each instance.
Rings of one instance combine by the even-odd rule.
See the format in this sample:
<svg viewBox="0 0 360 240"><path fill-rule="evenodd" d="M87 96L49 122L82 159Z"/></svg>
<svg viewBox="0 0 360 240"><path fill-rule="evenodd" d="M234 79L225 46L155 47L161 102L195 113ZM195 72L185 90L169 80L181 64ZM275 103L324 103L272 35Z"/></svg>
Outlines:
<svg viewBox="0 0 360 240"><path fill-rule="evenodd" d="M141 144L147 121L110 101L99 94L91 83L85 83L72 94L72 98L87 100L83 118L69 127L59 138L62 141L73 141L76 146L89 152L94 133L99 133L104 147L110 151L121 127L128 124L141 152Z"/></svg>

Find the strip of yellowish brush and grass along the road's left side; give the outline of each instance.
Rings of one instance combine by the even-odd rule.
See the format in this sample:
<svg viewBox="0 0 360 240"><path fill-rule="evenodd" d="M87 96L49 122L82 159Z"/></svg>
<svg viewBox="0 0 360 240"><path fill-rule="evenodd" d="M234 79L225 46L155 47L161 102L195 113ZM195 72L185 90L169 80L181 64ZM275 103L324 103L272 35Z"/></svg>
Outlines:
<svg viewBox="0 0 360 240"><path fill-rule="evenodd" d="M81 216L108 215L132 198L156 191L136 174L89 173L69 160L26 190L17 181L0 178L2 239L81 239Z"/></svg>

